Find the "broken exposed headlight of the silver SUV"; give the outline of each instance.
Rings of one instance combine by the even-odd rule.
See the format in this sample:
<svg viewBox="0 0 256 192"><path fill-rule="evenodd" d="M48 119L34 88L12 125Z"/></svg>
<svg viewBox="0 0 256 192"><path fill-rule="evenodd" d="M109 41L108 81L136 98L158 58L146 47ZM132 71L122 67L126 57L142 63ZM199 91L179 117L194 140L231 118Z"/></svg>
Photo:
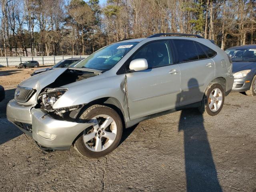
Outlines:
<svg viewBox="0 0 256 192"><path fill-rule="evenodd" d="M67 91L67 89L58 89L51 90L48 89L46 92L43 92L39 96L41 100L41 108L44 108L47 111L54 111L52 109L53 104Z"/></svg>

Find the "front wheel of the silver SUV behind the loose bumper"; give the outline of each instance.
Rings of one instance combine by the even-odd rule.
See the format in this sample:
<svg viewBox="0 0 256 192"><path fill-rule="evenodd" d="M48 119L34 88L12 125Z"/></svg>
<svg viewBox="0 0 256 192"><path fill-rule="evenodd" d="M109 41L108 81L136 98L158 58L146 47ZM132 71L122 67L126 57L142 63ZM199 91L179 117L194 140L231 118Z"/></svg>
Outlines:
<svg viewBox="0 0 256 192"><path fill-rule="evenodd" d="M82 132L74 146L83 156L99 158L112 152L122 137L122 120L118 113L104 105L92 105L87 108L78 122L95 122Z"/></svg>

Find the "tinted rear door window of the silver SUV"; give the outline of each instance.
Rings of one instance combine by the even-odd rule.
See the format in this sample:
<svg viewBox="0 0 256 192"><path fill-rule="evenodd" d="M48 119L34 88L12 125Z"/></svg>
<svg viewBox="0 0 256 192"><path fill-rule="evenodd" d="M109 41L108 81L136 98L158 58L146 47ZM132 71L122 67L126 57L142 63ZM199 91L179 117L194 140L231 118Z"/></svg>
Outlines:
<svg viewBox="0 0 256 192"><path fill-rule="evenodd" d="M186 40L174 40L174 44L178 52L179 62L198 60L198 54L196 52L194 42Z"/></svg>

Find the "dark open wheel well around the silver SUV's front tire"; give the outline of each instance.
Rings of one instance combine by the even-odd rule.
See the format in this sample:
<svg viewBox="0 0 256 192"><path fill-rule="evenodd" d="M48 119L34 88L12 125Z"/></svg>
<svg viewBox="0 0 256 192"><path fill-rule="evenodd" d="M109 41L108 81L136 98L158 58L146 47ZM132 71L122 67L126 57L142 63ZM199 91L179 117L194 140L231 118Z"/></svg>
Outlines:
<svg viewBox="0 0 256 192"><path fill-rule="evenodd" d="M108 107L114 109L119 114L119 116L122 120L123 127L126 127L125 126L124 110L122 108L122 105L119 103L119 101L116 98L113 98L113 97L100 98L97 100L93 100L92 102L90 102L88 104L83 105L83 107L80 108L80 111L77 114L74 114L74 116L72 118L74 118L77 121L78 118L83 114L83 112L85 110L87 110L90 106L96 105L96 104L105 105L105 106L108 106ZM82 134L83 134L83 131L74 139L73 145Z"/></svg>

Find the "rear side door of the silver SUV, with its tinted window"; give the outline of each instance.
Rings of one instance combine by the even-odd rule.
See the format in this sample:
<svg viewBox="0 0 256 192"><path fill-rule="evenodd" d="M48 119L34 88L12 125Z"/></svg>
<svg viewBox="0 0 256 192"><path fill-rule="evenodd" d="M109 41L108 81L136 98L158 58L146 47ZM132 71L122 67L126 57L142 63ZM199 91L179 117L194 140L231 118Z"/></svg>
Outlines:
<svg viewBox="0 0 256 192"><path fill-rule="evenodd" d="M208 83L214 79L215 64L202 46L192 40L172 40L180 67L180 106L202 100Z"/></svg>

